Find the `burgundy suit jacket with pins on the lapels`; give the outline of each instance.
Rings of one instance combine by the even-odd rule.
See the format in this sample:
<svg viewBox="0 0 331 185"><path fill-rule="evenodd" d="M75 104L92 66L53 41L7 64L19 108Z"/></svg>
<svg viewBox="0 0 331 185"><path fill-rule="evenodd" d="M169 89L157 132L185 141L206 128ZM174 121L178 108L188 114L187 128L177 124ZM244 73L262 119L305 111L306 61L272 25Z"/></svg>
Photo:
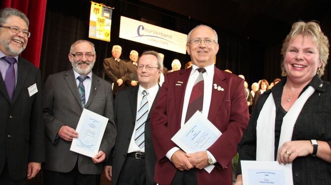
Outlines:
<svg viewBox="0 0 331 185"><path fill-rule="evenodd" d="M170 184L176 173L175 166L165 154L177 146L170 139L180 129L185 89L191 69L165 75L165 82L151 115L152 140L158 159L154 179L160 185ZM178 81L183 82L181 86L176 86ZM244 80L215 67L213 84L222 87L224 91L212 89L208 120L222 132L222 136L207 149L216 158L216 167L210 174L197 169L197 181L200 185L232 185L231 159L237 153L236 145L249 119Z"/></svg>

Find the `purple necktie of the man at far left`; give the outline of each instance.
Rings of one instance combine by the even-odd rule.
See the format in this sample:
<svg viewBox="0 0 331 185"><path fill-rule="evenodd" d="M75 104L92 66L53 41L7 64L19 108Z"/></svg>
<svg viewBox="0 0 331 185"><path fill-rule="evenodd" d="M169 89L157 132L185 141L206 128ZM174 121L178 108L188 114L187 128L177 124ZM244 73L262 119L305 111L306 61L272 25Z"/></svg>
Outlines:
<svg viewBox="0 0 331 185"><path fill-rule="evenodd" d="M4 84L6 85L7 93L9 95L10 100L13 100L14 97L14 90L15 90L15 69L14 64L16 62L15 58L4 56L2 57L3 60L5 60L9 67L7 69L6 75L4 77Z"/></svg>

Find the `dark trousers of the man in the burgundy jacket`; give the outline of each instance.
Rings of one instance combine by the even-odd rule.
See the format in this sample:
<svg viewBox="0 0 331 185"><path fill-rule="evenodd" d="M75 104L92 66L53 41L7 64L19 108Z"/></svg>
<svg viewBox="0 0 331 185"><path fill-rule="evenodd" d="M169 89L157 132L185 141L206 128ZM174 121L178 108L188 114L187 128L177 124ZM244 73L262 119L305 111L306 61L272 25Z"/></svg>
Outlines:
<svg viewBox="0 0 331 185"><path fill-rule="evenodd" d="M171 185L198 185L196 169L184 171L177 169Z"/></svg>

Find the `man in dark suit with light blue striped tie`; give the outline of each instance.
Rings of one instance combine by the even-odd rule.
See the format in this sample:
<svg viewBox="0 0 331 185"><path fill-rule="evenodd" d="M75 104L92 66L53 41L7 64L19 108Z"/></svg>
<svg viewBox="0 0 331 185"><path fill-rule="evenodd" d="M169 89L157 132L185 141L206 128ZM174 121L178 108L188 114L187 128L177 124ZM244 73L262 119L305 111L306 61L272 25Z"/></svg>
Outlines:
<svg viewBox="0 0 331 185"><path fill-rule="evenodd" d="M139 86L119 91L116 96L115 123L118 136L110 161L105 166L106 177L112 180L112 185L156 184L153 180L156 156L149 117L159 92L158 80L162 67L157 52L145 51L138 60ZM147 93L146 101L144 92ZM144 104L146 107L143 107ZM140 133L144 134L138 137Z"/></svg>

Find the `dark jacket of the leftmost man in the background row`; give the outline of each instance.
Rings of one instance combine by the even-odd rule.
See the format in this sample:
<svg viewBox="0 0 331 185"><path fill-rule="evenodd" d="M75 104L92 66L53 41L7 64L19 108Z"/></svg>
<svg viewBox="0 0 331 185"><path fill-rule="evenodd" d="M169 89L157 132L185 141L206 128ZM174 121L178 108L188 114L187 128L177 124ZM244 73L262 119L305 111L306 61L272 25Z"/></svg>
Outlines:
<svg viewBox="0 0 331 185"><path fill-rule="evenodd" d="M124 60L120 60L120 62L115 61L113 57L105 58L103 60L105 80L109 83L114 83L113 94L116 94L120 89L124 89L125 87L125 81L127 78L127 68L125 63ZM123 80L121 86L118 86L116 83L118 79Z"/></svg>

